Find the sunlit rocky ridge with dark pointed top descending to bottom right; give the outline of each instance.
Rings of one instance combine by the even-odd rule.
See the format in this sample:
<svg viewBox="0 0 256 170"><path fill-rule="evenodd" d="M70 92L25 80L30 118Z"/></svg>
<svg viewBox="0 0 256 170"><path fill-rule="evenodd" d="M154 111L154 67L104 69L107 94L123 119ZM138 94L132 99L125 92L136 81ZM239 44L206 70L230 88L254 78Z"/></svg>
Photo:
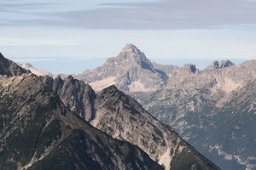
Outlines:
<svg viewBox="0 0 256 170"><path fill-rule="evenodd" d="M95 107L96 117L90 124L113 138L137 144L166 169L218 169L115 86L96 95Z"/></svg>

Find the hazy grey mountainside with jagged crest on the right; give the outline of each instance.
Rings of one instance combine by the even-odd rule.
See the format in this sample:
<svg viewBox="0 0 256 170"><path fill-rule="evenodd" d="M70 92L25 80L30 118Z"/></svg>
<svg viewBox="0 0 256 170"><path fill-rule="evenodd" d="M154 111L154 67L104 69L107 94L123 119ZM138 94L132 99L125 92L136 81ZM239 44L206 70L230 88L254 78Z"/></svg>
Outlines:
<svg viewBox="0 0 256 170"><path fill-rule="evenodd" d="M170 124L220 167L253 169L255 165L252 162L255 162L256 156L249 150L256 151L251 142L256 138L256 133L249 131L255 126L252 121L255 120L255 104L252 103L255 101L255 90L247 88L247 83L252 84L251 81L256 78L255 65L256 60L241 65L234 65L229 60L221 63L214 61L203 71L196 69L195 65L184 65L143 106L160 121ZM251 95L243 95L244 99L236 101L236 105L230 103L236 100L236 95L244 92L242 89L249 90ZM245 116L251 121L247 121ZM252 140L240 137L244 139L244 144L241 144L239 138L230 139L230 135L221 135L223 132L233 132L234 126L245 130L242 134L234 134L236 137L241 134L241 137L251 136ZM245 147L248 150L242 149Z"/></svg>

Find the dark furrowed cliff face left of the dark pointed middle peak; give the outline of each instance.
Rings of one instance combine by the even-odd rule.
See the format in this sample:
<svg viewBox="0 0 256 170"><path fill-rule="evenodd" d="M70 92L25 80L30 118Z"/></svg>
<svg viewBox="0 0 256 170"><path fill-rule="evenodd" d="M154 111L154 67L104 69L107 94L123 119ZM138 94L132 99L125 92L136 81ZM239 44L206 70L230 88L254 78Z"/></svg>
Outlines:
<svg viewBox="0 0 256 170"><path fill-rule="evenodd" d="M95 92L90 88L90 85L82 81L76 80L71 76L64 80L61 77L40 77L44 84L55 91L67 106L68 109L74 111L85 121L89 121L95 117L94 100Z"/></svg>

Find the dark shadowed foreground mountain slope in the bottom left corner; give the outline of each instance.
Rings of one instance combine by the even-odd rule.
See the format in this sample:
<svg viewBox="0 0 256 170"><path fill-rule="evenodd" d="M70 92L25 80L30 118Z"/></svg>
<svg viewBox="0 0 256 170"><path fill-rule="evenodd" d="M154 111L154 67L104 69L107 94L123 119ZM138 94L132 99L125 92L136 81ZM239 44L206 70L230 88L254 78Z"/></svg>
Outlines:
<svg viewBox="0 0 256 170"><path fill-rule="evenodd" d="M67 110L35 75L0 76L0 169L162 169Z"/></svg>

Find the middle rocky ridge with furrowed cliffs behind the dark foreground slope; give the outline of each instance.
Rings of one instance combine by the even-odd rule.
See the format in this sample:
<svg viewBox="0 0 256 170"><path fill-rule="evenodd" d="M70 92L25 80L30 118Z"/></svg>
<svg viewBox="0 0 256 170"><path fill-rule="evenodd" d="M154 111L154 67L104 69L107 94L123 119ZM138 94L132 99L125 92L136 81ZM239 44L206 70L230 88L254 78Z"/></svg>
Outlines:
<svg viewBox="0 0 256 170"><path fill-rule="evenodd" d="M91 125L121 139L137 144L166 169L218 169L211 161L181 139L171 127L149 115L136 100L115 86L95 94L90 85L69 76L62 80L40 77L68 108Z"/></svg>

